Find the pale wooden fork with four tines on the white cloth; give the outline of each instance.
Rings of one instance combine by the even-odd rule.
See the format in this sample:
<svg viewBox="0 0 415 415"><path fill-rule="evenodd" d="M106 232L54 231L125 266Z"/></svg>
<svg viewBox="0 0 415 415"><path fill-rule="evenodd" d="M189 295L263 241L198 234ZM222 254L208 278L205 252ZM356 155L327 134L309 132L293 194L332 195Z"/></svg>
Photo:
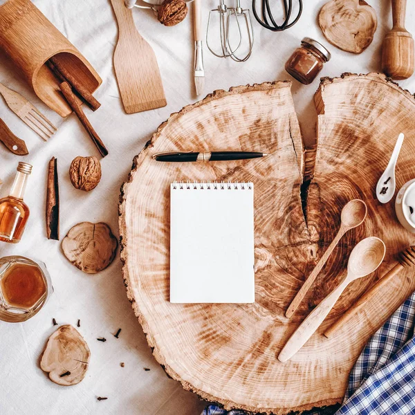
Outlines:
<svg viewBox="0 0 415 415"><path fill-rule="evenodd" d="M1 82L0 94L3 95L8 107L45 141L53 136L56 127L38 109L30 104L26 98L8 89Z"/></svg>

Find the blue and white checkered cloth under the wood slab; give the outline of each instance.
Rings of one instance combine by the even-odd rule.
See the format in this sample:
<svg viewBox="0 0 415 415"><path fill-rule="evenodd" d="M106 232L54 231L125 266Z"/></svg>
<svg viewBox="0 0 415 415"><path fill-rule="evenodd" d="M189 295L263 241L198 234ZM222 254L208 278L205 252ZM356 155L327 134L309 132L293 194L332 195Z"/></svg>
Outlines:
<svg viewBox="0 0 415 415"><path fill-rule="evenodd" d="M415 415L415 293L366 344L349 376L343 404L308 415ZM246 415L217 405L202 415Z"/></svg>

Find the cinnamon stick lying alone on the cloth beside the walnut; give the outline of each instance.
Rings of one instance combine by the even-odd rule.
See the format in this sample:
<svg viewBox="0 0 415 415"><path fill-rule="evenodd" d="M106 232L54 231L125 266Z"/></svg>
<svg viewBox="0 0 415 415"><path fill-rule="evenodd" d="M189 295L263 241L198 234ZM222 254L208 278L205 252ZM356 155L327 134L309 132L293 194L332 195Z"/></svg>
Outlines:
<svg viewBox="0 0 415 415"><path fill-rule="evenodd" d="M48 165L46 234L48 239L59 241L59 185L57 182L57 159L55 157L50 159Z"/></svg>

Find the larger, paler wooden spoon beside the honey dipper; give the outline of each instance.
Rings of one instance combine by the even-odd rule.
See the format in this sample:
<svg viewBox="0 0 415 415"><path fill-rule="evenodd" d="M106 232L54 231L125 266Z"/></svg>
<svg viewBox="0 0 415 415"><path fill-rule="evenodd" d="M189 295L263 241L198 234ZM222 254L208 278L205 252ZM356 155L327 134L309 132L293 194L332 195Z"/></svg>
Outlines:
<svg viewBox="0 0 415 415"><path fill-rule="evenodd" d="M369 275L382 264L385 257L386 247L382 239L369 237L360 241L351 251L347 264L347 276L343 282L335 288L317 307L306 317L306 320L299 325L298 329L291 335L278 360L286 362L301 349L313 333L318 329L326 316L330 313L335 302L338 300L344 289L355 279Z"/></svg>

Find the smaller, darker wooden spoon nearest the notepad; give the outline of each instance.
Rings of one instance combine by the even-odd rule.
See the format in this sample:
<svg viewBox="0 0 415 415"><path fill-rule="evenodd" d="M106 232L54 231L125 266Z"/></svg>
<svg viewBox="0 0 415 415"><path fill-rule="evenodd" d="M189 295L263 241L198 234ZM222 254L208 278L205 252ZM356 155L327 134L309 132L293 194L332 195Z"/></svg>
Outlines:
<svg viewBox="0 0 415 415"><path fill-rule="evenodd" d="M309 275L309 277L304 282L303 286L299 289L297 295L295 295L293 301L291 302L290 306L286 311L286 317L290 318L291 315L295 313L299 304L302 302L302 299L305 297L307 291L310 289L311 285L317 278L317 275L320 273L324 264L326 264L327 259L329 259L331 252L335 246L337 246L338 242L342 238L342 236L349 230L356 228L358 225L361 225L363 221L366 219L367 214L367 205L364 201L360 199L353 199L349 201L344 208L342 209L342 214L340 216L340 229L338 234L333 239L333 242L329 245L329 248L326 249L324 255L320 258L320 261L317 262L317 265L313 269L313 272Z"/></svg>

